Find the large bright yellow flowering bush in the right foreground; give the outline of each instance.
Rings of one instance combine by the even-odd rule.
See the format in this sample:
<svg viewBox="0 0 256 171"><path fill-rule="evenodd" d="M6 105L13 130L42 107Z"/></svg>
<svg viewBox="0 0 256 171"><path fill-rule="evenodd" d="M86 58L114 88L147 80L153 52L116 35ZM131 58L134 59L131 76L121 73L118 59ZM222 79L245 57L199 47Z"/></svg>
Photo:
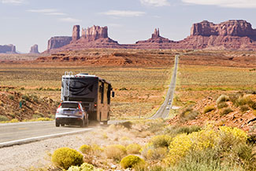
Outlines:
<svg viewBox="0 0 256 171"><path fill-rule="evenodd" d="M216 147L221 151L227 151L232 145L246 144L247 137L247 133L238 128L221 126L219 130L216 130L209 125L199 132L175 136L169 145L169 154L165 162L175 165L193 151L206 151Z"/></svg>

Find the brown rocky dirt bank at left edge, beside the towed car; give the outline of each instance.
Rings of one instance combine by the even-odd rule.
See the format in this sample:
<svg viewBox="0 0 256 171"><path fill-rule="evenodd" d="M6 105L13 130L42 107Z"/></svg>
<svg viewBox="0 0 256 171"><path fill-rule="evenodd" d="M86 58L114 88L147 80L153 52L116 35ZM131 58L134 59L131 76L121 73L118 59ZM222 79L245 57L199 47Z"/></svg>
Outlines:
<svg viewBox="0 0 256 171"><path fill-rule="evenodd" d="M57 103L47 97L19 93L13 87L0 87L0 116L23 121L32 118L53 117ZM4 121L5 119L2 119Z"/></svg>

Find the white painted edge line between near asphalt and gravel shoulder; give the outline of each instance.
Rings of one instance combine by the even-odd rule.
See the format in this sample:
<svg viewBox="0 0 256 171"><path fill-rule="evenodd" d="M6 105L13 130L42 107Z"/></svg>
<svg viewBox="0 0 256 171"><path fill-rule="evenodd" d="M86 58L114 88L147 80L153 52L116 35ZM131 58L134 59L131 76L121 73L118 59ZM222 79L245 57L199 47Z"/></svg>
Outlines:
<svg viewBox="0 0 256 171"><path fill-rule="evenodd" d="M13 145L28 144L28 143L32 143L32 142L35 142L35 141L38 141L38 140L46 140L46 139L54 138L54 137L58 137L58 136L65 136L65 135L70 135L70 134L83 133L83 132L90 131L91 129L92 128L88 128L88 129L83 129L83 130L79 130L79 131L72 131L72 132L68 132L68 133L55 133L55 134L52 134L52 135L36 136L36 137L25 138L25 139L21 139L21 140L7 141L7 142L0 143L0 148L1 147L9 147L9 146L13 146Z"/></svg>

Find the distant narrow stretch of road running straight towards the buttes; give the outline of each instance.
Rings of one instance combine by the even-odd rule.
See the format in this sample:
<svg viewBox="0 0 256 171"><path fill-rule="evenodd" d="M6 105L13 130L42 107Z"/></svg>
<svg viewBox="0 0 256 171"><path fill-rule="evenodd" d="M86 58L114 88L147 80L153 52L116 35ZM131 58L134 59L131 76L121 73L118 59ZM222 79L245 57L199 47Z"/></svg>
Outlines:
<svg viewBox="0 0 256 171"><path fill-rule="evenodd" d="M152 118L167 118L169 116L169 111L173 106L173 95L175 91L176 86L176 77L177 77L177 71L178 71L178 62L179 62L179 56L175 56L175 64L173 69L173 76L171 83L169 85L168 93L165 96L165 101L163 104L161 104L161 107L158 109L155 115L153 115Z"/></svg>

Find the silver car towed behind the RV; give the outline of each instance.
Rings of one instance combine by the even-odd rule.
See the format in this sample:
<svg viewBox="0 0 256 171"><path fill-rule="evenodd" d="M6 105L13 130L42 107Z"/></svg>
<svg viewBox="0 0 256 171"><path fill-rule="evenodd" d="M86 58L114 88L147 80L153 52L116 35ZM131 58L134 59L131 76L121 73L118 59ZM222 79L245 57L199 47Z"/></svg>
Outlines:
<svg viewBox="0 0 256 171"><path fill-rule="evenodd" d="M59 105L55 115L55 126L78 125L88 126L89 120L87 112L77 101L63 101Z"/></svg>

